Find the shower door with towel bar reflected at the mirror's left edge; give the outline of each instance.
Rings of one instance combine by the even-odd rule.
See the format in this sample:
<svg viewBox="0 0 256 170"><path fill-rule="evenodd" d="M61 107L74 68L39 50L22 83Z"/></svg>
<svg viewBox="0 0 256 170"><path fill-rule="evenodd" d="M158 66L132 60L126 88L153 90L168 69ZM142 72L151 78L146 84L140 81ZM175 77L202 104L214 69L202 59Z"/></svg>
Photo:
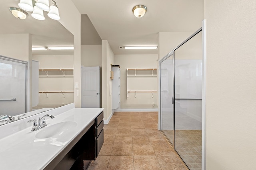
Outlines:
<svg viewBox="0 0 256 170"><path fill-rule="evenodd" d="M27 62L0 56L0 115L28 111L27 70Z"/></svg>

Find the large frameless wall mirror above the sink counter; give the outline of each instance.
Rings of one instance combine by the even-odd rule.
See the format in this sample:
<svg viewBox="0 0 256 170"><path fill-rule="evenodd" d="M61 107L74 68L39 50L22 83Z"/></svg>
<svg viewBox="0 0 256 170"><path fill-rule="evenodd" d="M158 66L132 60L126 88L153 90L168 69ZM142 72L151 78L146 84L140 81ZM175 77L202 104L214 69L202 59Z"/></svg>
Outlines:
<svg viewBox="0 0 256 170"><path fill-rule="evenodd" d="M0 69L0 82L6 83L1 85L1 88L4 88L0 91L0 115L11 115L15 117L15 121L74 102L73 50L31 50L31 47L73 47L73 35L57 20L48 17L45 17L43 21L32 18L31 14L24 20L15 18L9 8L18 8L18 3L19 1L15 0L1 0L0 2L0 56L3 56L3 60L0 60L2 68ZM46 15L47 12L44 12L44 16ZM13 59L13 61L10 63L4 57ZM22 70L24 74L21 74L25 81L28 81L27 85L11 82L13 80L10 77L14 77L15 80L22 79L19 76L21 72L19 69L20 67L23 69L23 65L26 65L15 64L16 59L21 63L27 63L27 66L24 66L25 70ZM37 65L37 72L32 71L32 65ZM9 74L6 73L8 78L4 75L4 67L13 68L12 71L9 70ZM32 78L33 74L38 74L36 82ZM32 95L32 87L36 83L38 83L36 85L38 92ZM9 99L4 92L10 92L10 99L20 92L24 93L25 97L22 101L18 98L16 101L2 101L1 99ZM34 102L36 100L38 102ZM15 102L21 102L24 108L15 108L18 106ZM10 103L12 106L8 106ZM16 110L13 111L14 108ZM0 117L0 125L9 122L8 119L6 116Z"/></svg>

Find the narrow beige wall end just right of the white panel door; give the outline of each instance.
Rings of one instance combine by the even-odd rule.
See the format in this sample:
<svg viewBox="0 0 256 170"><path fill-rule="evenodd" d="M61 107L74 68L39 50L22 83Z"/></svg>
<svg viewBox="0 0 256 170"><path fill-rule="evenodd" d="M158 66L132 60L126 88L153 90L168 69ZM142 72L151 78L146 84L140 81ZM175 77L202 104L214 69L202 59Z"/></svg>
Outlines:
<svg viewBox="0 0 256 170"><path fill-rule="evenodd" d="M111 64L114 63L114 53L107 40L102 40L102 107L104 120L109 120L112 114L112 81L110 80Z"/></svg>

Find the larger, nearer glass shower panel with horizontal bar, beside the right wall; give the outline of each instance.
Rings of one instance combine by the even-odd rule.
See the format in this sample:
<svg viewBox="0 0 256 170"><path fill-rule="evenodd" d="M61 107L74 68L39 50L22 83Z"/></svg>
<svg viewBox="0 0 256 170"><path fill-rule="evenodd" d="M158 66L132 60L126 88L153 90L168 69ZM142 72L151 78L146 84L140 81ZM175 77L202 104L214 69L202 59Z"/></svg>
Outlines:
<svg viewBox="0 0 256 170"><path fill-rule="evenodd" d="M202 31L174 51L175 150L190 170L202 161Z"/></svg>

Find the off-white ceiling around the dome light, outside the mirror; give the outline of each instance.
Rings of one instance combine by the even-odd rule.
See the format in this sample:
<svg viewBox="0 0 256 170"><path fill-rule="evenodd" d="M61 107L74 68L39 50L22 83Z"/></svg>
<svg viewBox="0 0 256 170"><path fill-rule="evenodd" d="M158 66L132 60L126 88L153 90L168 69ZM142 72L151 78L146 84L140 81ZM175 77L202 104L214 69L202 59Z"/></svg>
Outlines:
<svg viewBox="0 0 256 170"><path fill-rule="evenodd" d="M203 0L72 1L81 14L87 14L100 38L108 40L114 54L158 54L158 49L127 50L119 46L158 45L158 32L195 32L204 19ZM142 18L132 13L138 4L148 8Z"/></svg>

